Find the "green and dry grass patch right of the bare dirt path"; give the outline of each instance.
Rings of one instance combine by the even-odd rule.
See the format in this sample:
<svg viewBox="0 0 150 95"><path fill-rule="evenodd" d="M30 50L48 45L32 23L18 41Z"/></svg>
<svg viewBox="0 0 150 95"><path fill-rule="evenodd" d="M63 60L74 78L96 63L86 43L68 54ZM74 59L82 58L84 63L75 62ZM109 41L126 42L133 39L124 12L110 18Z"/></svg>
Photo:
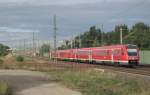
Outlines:
<svg viewBox="0 0 150 95"><path fill-rule="evenodd" d="M150 86L146 83L115 74L67 70L51 70L49 74L54 80L81 91L83 95L150 95Z"/></svg>

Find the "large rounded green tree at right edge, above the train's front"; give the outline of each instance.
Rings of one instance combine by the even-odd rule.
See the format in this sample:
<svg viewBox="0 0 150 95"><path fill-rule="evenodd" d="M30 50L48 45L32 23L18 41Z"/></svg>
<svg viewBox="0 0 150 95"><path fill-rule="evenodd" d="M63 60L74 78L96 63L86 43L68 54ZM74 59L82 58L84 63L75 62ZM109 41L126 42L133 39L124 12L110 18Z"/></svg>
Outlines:
<svg viewBox="0 0 150 95"><path fill-rule="evenodd" d="M150 27L143 22L136 23L126 38L128 43L137 44L140 48L150 48Z"/></svg>

